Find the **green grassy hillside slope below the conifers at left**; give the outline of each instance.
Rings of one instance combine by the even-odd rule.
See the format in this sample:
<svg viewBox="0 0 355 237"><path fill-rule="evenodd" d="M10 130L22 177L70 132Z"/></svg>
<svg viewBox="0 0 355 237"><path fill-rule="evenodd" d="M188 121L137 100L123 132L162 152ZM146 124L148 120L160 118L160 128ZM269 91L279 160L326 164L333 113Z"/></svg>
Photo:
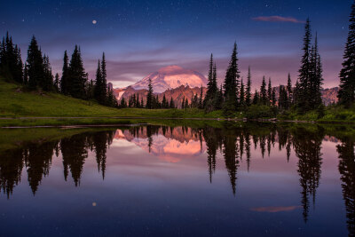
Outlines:
<svg viewBox="0 0 355 237"><path fill-rule="evenodd" d="M24 91L0 78L0 117L12 116L119 116L116 108L57 93Z"/></svg>

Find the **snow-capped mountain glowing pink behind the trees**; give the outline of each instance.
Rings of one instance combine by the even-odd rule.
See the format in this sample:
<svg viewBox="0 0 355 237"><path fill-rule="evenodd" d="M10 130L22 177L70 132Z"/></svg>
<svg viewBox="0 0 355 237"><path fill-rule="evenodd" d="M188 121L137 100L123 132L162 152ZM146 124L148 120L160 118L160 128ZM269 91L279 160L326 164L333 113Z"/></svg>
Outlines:
<svg viewBox="0 0 355 237"><path fill-rule="evenodd" d="M178 66L162 67L157 72L147 75L138 83L131 87L135 90L147 89L149 78L152 80L153 90L155 93L162 93L168 89L174 89L181 85L193 87L206 86L207 79L199 72L185 69Z"/></svg>

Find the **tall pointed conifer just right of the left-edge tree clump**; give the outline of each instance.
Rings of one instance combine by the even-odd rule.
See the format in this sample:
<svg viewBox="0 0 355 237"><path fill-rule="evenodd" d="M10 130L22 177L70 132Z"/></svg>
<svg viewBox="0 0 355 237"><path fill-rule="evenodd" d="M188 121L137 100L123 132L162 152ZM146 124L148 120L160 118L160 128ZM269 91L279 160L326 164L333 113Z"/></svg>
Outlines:
<svg viewBox="0 0 355 237"><path fill-rule="evenodd" d="M28 46L27 72L29 88L36 89L37 86L43 85L43 58L35 36L32 37Z"/></svg>

